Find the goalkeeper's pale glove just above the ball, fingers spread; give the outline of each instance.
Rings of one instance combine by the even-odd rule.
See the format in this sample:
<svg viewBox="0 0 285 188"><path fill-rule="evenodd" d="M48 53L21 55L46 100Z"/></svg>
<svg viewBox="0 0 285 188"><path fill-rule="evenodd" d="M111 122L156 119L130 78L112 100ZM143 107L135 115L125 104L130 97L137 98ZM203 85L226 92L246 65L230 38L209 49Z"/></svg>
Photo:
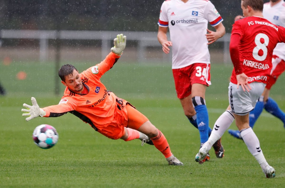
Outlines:
<svg viewBox="0 0 285 188"><path fill-rule="evenodd" d="M23 104L23 106L26 107L27 109L22 109L22 112L28 112L28 113L24 113L22 114L22 116L30 116L26 118L26 121L30 121L31 119L34 119L38 116L42 117L46 115L46 112L38 106L38 103L36 102L36 99L34 97L31 98L31 101L32 101L32 106L27 105L26 103Z"/></svg>

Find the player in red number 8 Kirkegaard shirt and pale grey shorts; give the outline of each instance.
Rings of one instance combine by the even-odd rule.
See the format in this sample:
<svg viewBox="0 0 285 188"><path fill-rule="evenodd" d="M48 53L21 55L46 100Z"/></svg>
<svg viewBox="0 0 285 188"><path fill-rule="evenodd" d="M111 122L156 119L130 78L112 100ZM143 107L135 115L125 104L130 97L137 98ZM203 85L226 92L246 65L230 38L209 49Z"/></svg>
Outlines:
<svg viewBox="0 0 285 188"><path fill-rule="evenodd" d="M268 178L275 176L275 170L266 162L260 143L249 126L249 112L264 91L272 69L272 53L277 43L285 42L285 28L276 26L263 18L262 0L242 0L241 9L245 18L233 24L230 55L233 72L229 83L229 104L215 122L209 140L195 156L197 162L205 158L215 141L229 128L235 119L237 128L247 148L260 164Z"/></svg>

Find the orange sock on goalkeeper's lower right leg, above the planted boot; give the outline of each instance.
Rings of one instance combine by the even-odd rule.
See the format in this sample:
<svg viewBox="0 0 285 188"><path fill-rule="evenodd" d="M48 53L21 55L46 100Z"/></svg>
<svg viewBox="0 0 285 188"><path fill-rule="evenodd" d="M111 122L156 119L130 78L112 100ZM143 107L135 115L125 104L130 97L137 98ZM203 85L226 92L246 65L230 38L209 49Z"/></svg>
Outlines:
<svg viewBox="0 0 285 188"><path fill-rule="evenodd" d="M160 132L160 130L158 129L157 131L158 135L156 137L151 138L151 140L154 146L165 156L165 158L168 158L172 156L168 142L162 132Z"/></svg>

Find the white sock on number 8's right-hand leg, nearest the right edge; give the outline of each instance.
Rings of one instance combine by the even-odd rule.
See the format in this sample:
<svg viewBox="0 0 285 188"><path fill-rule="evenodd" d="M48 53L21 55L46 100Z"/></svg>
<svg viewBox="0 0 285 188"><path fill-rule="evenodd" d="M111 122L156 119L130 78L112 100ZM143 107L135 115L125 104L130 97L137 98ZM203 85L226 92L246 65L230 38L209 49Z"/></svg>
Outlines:
<svg viewBox="0 0 285 188"><path fill-rule="evenodd" d="M250 127L241 130L241 137L243 138L243 141L247 145L247 148L249 149L250 153L255 157L255 159L260 164L264 172L266 166L268 166L268 163L265 160L265 157L260 148L259 140L255 135L255 133L253 132L252 128Z"/></svg>

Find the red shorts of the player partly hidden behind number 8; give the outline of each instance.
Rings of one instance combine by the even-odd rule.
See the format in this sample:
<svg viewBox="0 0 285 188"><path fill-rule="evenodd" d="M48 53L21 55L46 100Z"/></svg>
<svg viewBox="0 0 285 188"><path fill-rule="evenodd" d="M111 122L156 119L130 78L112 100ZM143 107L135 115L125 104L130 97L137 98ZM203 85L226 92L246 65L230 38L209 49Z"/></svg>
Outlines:
<svg viewBox="0 0 285 188"><path fill-rule="evenodd" d="M279 58L276 55L272 56L272 69L270 72L270 77L268 83L266 84L266 89L270 90L272 85L276 82L278 77L284 72L285 70L285 61Z"/></svg>

